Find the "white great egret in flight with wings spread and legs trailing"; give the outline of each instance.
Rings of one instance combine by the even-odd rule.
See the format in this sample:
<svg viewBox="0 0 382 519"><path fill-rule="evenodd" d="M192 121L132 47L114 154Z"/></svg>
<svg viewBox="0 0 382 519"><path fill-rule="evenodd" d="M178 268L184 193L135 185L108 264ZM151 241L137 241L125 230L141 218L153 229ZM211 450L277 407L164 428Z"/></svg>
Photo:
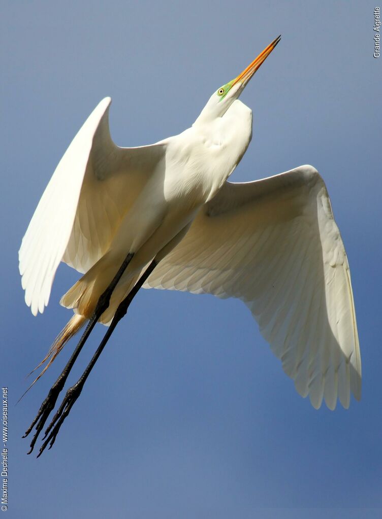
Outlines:
<svg viewBox="0 0 382 519"><path fill-rule="evenodd" d="M334 409L337 397L348 407L350 391L360 398L349 265L318 171L300 166L255 182L227 182L252 137L252 111L239 95L279 41L216 90L179 135L117 147L106 98L62 157L22 240L20 274L33 315L48 304L60 261L84 274L61 299L74 316L44 359L46 367L88 325L25 433L36 425L30 452L95 323L109 329L65 395L38 455L54 443L142 285L242 299L314 407L324 398Z"/></svg>

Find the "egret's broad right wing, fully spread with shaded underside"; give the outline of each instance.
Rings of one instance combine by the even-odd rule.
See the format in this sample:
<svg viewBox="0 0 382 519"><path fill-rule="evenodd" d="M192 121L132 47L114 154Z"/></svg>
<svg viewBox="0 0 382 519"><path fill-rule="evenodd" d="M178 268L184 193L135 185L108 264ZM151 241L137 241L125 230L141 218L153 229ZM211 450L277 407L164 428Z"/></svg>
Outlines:
<svg viewBox="0 0 382 519"><path fill-rule="evenodd" d="M238 297L294 379L320 407L361 396L350 272L325 184L301 166L227 182L199 212L146 288Z"/></svg>

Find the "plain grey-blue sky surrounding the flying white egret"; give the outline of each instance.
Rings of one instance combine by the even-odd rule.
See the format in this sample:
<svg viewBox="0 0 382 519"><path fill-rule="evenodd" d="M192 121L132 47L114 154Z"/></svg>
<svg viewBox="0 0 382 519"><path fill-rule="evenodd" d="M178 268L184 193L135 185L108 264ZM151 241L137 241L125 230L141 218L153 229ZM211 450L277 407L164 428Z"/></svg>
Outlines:
<svg viewBox="0 0 382 519"><path fill-rule="evenodd" d="M364 2L4 2L2 385L9 388L8 517L380 517L380 83ZM17 251L60 157L111 95L119 145L190 126L210 94L271 40L241 99L254 139L248 181L311 163L349 257L363 396L315 411L239 301L141 291L52 450L21 435L74 345L17 405L24 376L71 313L61 265L50 304L24 304ZM70 383L105 329L98 325ZM306 510L317 509L317 510ZM326 510L324 510L326 509ZM367 510L366 510L367 509ZM4 516L6 517L6 515Z"/></svg>

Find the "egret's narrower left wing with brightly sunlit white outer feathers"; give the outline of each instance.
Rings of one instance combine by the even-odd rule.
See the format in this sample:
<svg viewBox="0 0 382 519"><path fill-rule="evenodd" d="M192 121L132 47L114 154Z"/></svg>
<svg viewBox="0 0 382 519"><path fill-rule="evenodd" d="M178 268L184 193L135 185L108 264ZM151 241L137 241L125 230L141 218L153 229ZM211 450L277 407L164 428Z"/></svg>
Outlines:
<svg viewBox="0 0 382 519"><path fill-rule="evenodd" d="M60 160L19 251L25 302L48 304L63 260L86 272L108 250L126 211L165 153L163 143L120 148L110 137L110 98L89 115Z"/></svg>

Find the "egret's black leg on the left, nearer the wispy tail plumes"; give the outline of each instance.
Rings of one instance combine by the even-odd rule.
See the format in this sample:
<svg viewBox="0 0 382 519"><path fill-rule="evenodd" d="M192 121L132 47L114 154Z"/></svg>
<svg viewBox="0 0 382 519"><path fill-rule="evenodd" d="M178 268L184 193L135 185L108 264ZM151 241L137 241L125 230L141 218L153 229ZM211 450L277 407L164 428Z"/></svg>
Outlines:
<svg viewBox="0 0 382 519"><path fill-rule="evenodd" d="M76 359L78 357L78 354L80 353L82 347L86 343L86 339L90 335L90 332L93 330L96 322L101 317L102 313L108 308L109 303L110 303L111 294L113 293L113 291L114 291L118 281L121 279L124 271L126 270L127 265L130 263L131 258L133 258L133 256L134 256L134 253L127 254L124 262L122 263L121 267L118 269L118 271L117 271L116 275L114 276L112 282L110 283L108 288L103 292L103 294L98 299L98 303L97 303L96 309L95 309L95 311L93 313L93 316L91 316L91 318L89 320L89 323L86 326L86 329L85 329L84 333L82 334L80 342L77 344L75 350L73 351L73 354L72 354L71 358L69 359L67 365L64 367L61 375L58 377L58 379L56 380L54 385L50 388L48 396L46 397L46 399L41 404L41 407L39 408L36 417L32 421L31 426L25 432L23 438L25 438L25 436L28 436L28 434L32 431L33 427L37 424L36 425L36 432L35 432L35 434L34 434L34 436L32 438L32 442L31 442L31 445L30 445L31 448L30 448L28 454L30 454L32 452L33 447L34 447L34 445L36 443L36 440L37 440L37 437L38 437L39 433L42 431L42 429L44 427L44 424L45 424L45 422L46 422L50 412L52 411L52 409L56 405L58 395L60 394L60 392L62 391L62 388L64 387L65 381L68 378L70 370L72 369L73 364L74 364L74 362L76 361Z"/></svg>

